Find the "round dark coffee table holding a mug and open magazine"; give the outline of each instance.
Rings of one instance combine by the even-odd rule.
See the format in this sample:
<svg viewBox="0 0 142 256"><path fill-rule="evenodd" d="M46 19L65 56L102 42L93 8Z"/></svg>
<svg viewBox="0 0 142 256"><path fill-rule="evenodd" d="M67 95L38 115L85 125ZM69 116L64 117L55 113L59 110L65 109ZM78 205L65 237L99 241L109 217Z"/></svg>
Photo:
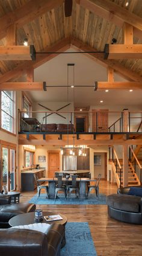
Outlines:
<svg viewBox="0 0 142 256"><path fill-rule="evenodd" d="M43 212L43 216L56 215L56 214L60 214L60 213ZM13 218L11 218L8 223L10 226L33 224L33 223L36 223L34 220L34 216L35 216L34 212L19 214L17 216L14 216ZM46 222L45 218L43 218L41 223L48 223L48 224L57 223L57 224L63 225L64 228L66 228L67 217L64 216L63 214L60 214L60 216L63 218L63 220L55 220L53 222ZM61 242L61 248L63 248L64 245L66 245L65 233L64 233L63 240Z"/></svg>

